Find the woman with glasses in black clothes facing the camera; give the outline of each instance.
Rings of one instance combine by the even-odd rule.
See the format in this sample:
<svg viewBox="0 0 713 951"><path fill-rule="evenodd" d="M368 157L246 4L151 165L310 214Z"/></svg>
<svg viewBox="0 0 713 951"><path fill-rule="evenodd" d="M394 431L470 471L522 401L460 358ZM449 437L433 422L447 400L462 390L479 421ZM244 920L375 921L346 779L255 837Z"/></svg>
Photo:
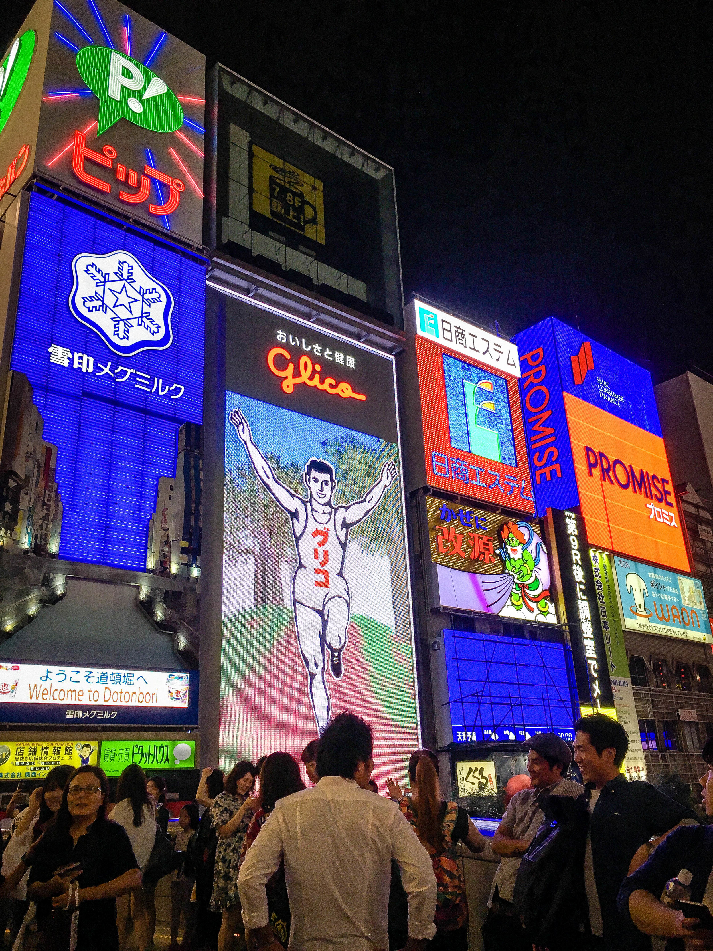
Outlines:
<svg viewBox="0 0 713 951"><path fill-rule="evenodd" d="M106 818L108 791L102 769L75 769L29 856L28 898L37 905L37 930L53 949L68 949L74 921L75 951L118 951L116 900L141 887L125 830Z"/></svg>

